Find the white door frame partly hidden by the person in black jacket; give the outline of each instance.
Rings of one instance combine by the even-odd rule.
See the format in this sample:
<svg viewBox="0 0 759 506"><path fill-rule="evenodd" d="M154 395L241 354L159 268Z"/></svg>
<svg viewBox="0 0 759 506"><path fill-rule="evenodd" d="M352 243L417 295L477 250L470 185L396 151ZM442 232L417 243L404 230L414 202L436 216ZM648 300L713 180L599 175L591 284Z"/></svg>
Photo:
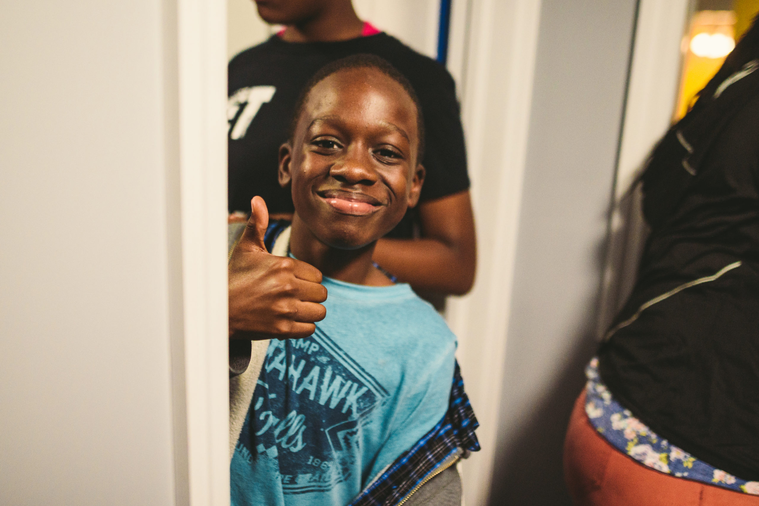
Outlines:
<svg viewBox="0 0 759 506"><path fill-rule="evenodd" d="M635 27L625 121L619 147L609 243L597 324L603 338L635 284L646 238L635 180L653 145L669 129L682 69L681 41L690 0L641 0Z"/></svg>

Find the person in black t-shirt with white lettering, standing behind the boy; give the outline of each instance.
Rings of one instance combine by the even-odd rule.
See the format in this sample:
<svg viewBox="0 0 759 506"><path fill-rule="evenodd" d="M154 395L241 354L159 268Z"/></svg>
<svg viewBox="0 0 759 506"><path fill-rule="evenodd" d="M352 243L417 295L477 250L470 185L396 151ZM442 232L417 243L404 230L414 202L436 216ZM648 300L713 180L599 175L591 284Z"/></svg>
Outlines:
<svg viewBox="0 0 759 506"><path fill-rule="evenodd" d="M378 55L403 73L419 96L427 180L420 204L378 242L374 259L415 289L468 292L474 282L474 218L455 84L445 67L363 23L350 0L256 3L263 20L287 27L229 63L231 220L250 213L254 195L263 197L272 218L291 216L291 196L279 186L277 164L298 93L330 61Z"/></svg>

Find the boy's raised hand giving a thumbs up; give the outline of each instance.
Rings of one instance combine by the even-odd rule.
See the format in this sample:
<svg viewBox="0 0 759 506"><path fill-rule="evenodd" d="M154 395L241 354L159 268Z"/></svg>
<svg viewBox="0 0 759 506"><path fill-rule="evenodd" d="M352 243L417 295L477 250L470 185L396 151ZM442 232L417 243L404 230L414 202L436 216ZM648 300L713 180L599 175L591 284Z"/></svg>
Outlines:
<svg viewBox="0 0 759 506"><path fill-rule="evenodd" d="M298 339L323 320L327 289L310 264L270 255L263 244L269 211L263 198L250 201L250 220L229 261L229 337Z"/></svg>

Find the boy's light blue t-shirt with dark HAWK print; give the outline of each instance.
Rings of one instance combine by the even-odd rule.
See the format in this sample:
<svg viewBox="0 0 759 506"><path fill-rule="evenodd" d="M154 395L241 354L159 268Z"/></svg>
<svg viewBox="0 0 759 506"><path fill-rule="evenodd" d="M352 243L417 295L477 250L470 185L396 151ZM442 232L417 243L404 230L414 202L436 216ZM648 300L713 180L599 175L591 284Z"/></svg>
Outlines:
<svg viewBox="0 0 759 506"><path fill-rule="evenodd" d="M446 414L456 341L433 307L407 284L323 285L316 333L266 351L233 506L344 506Z"/></svg>

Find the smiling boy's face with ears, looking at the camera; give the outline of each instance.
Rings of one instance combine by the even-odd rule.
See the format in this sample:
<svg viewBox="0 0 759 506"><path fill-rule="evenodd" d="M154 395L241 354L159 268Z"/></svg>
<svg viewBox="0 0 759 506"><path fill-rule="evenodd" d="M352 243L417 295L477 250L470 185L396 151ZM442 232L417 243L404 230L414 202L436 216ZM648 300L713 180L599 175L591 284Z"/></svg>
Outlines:
<svg viewBox="0 0 759 506"><path fill-rule="evenodd" d="M379 70L340 70L314 86L292 142L280 148L279 183L326 245L370 244L419 200L417 111Z"/></svg>

